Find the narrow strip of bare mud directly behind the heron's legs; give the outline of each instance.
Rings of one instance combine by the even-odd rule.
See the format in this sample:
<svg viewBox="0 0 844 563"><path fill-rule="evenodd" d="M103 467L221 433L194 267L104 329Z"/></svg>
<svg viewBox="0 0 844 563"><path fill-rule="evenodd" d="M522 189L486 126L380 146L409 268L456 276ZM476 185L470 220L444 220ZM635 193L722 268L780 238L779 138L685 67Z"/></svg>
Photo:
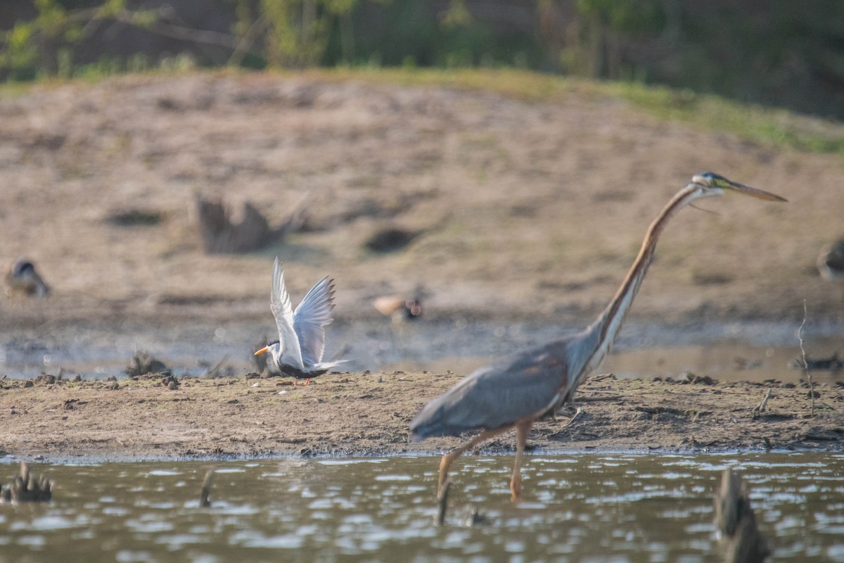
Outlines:
<svg viewBox="0 0 844 563"><path fill-rule="evenodd" d="M392 372L329 374L307 387L281 378L160 377L116 382L2 380L0 450L11 457L139 459L433 454L456 438L408 442L408 422L460 376ZM766 408L757 412L766 393ZM696 451L844 450L844 388L791 383L622 380L595 376L577 393L574 420L534 426L529 445ZM509 453L514 436L482 451Z"/></svg>

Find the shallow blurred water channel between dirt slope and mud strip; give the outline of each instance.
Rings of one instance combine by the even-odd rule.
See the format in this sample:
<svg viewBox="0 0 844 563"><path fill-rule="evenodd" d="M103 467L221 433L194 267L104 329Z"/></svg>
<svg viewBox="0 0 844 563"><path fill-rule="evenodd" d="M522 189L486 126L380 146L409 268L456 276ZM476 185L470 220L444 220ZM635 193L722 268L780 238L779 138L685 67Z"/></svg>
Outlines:
<svg viewBox="0 0 844 563"><path fill-rule="evenodd" d="M800 350L789 323L738 322L666 327L630 323L601 371L619 376L683 376L686 371L724 381L777 379L797 382L801 371L788 366ZM157 328L124 323L118 327L77 324L66 328L0 332L0 376L56 374L61 367L87 378L120 376L129 359L144 350L163 360L177 376L202 376L225 358L230 375L254 371L252 351L274 327L247 323ZM391 327L388 322L335 322L328 328L326 358L349 359L349 371L430 370L468 373L491 359L571 333L558 326L527 322L427 321ZM844 327L805 329L810 358L844 353ZM274 337L273 337L274 338ZM817 382L844 373L815 372Z"/></svg>

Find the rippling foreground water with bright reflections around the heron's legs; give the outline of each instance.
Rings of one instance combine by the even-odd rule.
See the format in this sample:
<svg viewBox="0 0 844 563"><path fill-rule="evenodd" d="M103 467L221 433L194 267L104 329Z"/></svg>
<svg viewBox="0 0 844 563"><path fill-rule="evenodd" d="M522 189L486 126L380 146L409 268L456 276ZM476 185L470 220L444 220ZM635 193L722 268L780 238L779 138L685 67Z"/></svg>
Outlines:
<svg viewBox="0 0 844 563"><path fill-rule="evenodd" d="M432 457L42 464L54 500L0 506L0 562L715 561L711 495L728 466L774 560L844 561L842 454L534 455L517 505L510 464L462 458L442 528ZM0 465L3 480L16 470ZM460 524L466 504L484 525Z"/></svg>

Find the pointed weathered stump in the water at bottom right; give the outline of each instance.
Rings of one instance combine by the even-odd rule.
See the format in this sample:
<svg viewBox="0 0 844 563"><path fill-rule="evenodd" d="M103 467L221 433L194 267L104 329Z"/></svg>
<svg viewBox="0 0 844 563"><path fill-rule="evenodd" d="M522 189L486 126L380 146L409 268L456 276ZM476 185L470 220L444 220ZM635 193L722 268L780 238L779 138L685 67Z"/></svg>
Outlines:
<svg viewBox="0 0 844 563"><path fill-rule="evenodd" d="M756 526L747 485L731 469L724 470L715 493L715 523L728 563L762 563L771 555L770 545Z"/></svg>

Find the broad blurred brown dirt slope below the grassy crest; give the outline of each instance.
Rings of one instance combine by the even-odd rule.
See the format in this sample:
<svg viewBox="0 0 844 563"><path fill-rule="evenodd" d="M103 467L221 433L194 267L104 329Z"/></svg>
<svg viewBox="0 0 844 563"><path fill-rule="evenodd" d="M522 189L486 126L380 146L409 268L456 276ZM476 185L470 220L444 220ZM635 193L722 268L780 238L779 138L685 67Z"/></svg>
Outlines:
<svg viewBox="0 0 844 563"><path fill-rule="evenodd" d="M814 269L841 230L844 160L701 132L624 100L547 102L332 75L130 76L0 94L0 258L25 255L49 307L0 306L3 325L133 317L266 320L270 263L293 295L337 279L340 318L376 295L426 292L426 314L597 313L668 198L713 170L791 200L684 210L636 300L638 320L841 319ZM206 256L192 194L250 201L280 222L310 193L310 229L241 256ZM127 211L158 225L122 226ZM402 252L366 243L416 236Z"/></svg>

